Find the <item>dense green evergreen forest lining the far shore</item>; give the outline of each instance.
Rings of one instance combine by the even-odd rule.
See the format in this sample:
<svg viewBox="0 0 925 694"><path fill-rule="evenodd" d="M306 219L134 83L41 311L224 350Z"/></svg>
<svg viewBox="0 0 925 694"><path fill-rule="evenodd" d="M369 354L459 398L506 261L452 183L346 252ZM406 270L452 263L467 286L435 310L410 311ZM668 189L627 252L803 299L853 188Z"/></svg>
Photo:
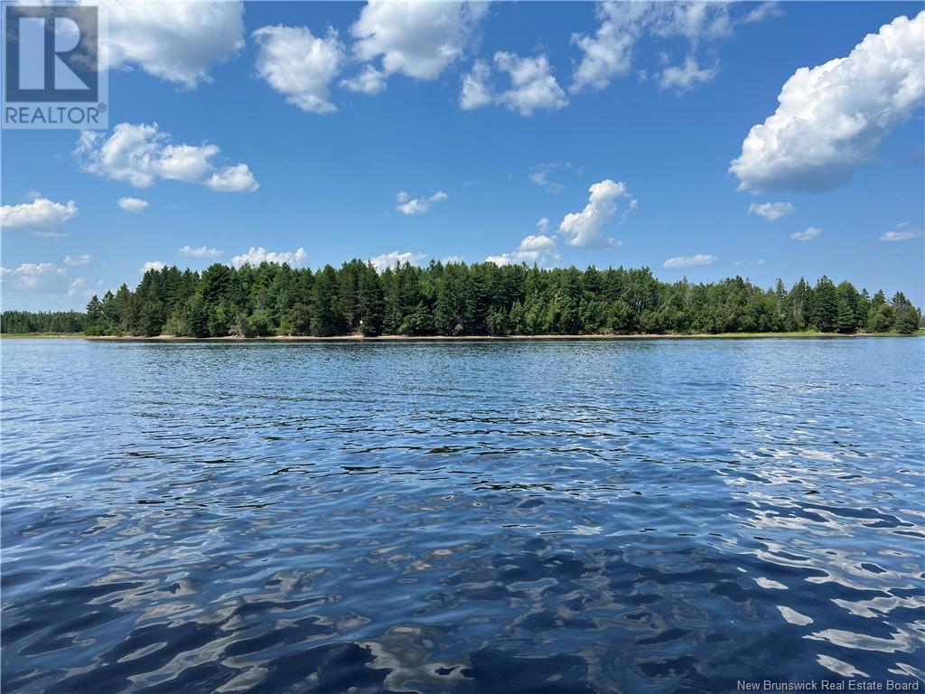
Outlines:
<svg viewBox="0 0 925 694"><path fill-rule="evenodd" d="M312 271L263 263L202 273L148 270L134 291L94 296L86 314L7 311L4 333L87 335L583 335L635 333L913 333L921 311L898 292L870 296L850 282L736 277L667 283L648 268L541 269L433 262L383 272L360 260Z"/></svg>

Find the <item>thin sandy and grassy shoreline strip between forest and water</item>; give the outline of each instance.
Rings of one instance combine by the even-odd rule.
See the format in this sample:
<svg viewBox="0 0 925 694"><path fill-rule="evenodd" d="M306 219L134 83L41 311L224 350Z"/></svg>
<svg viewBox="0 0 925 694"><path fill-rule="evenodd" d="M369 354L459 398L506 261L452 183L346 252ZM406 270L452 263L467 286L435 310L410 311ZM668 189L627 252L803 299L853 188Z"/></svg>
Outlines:
<svg viewBox="0 0 925 694"><path fill-rule="evenodd" d="M138 337L134 335L99 335L88 336L79 332L72 333L10 333L0 335L5 340L87 340L118 342L482 342L482 341L537 341L537 340L582 340L582 341L626 341L626 340L770 340L770 339L851 339L851 338L889 338L916 337L925 335L919 329L912 335L897 332L722 332L692 334L639 334L639 335L380 335L375 338L363 335L336 335L317 337L314 335L271 335L262 338L244 338L228 335L222 338L189 338L177 335L155 335Z"/></svg>

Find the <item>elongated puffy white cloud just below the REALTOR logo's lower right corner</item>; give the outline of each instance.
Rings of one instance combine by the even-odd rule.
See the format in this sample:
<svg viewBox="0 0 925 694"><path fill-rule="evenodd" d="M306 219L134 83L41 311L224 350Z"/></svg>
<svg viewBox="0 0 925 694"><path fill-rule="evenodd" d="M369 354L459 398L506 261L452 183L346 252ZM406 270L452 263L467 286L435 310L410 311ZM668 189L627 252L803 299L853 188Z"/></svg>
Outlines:
<svg viewBox="0 0 925 694"><path fill-rule="evenodd" d="M255 191L258 184L246 164L216 168L212 159L219 152L214 144L173 144L157 123L119 123L108 137L81 132L74 155L84 171L126 180L136 188L166 179L199 183L221 192Z"/></svg>

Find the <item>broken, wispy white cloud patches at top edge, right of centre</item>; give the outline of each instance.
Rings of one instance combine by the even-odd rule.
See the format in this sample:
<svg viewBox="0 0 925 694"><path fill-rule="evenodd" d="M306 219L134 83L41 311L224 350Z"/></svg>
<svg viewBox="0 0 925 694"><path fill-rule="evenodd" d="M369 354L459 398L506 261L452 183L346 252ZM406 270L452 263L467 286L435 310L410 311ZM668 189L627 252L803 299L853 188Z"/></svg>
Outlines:
<svg viewBox="0 0 925 694"><path fill-rule="evenodd" d="M572 35L572 43L582 53L574 69L572 93L601 90L611 81L630 73L636 43L644 35L660 39L686 39L692 49L704 41L715 41L732 33L735 23L726 2L623 2L607 0L598 5L598 30L594 34ZM752 13L758 21L770 13ZM680 68L666 68L662 88L686 91L711 80L716 67L703 70L693 56ZM667 82L667 83L666 83Z"/></svg>

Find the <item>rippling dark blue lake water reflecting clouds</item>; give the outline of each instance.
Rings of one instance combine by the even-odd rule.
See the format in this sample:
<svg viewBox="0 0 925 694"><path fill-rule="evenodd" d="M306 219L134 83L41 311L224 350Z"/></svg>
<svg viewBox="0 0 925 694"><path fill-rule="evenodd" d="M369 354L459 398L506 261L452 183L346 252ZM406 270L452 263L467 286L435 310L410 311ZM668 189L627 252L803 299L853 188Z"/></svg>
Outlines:
<svg viewBox="0 0 925 694"><path fill-rule="evenodd" d="M925 341L2 345L2 689L925 677Z"/></svg>

